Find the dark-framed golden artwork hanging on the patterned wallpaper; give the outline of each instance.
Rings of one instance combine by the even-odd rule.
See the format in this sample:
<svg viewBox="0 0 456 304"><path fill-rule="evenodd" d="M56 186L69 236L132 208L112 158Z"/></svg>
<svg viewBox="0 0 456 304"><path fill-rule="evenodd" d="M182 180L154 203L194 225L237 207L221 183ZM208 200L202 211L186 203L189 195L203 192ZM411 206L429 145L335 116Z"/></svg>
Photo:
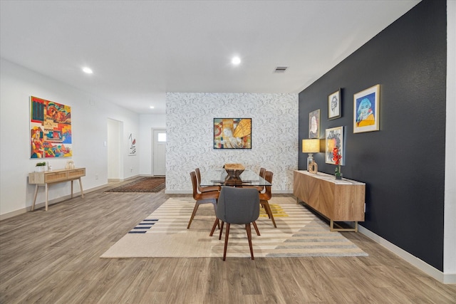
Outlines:
<svg viewBox="0 0 456 304"><path fill-rule="evenodd" d="M214 149L252 149L252 118L214 118Z"/></svg>

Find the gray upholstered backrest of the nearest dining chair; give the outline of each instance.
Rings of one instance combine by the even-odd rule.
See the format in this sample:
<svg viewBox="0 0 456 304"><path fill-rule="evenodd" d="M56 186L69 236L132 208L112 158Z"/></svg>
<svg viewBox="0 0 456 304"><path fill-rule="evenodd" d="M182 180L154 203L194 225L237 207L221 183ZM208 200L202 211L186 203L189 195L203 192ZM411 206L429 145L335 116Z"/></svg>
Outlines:
<svg viewBox="0 0 456 304"><path fill-rule="evenodd" d="M217 218L230 224L249 224L259 217L259 193L255 188L222 187Z"/></svg>

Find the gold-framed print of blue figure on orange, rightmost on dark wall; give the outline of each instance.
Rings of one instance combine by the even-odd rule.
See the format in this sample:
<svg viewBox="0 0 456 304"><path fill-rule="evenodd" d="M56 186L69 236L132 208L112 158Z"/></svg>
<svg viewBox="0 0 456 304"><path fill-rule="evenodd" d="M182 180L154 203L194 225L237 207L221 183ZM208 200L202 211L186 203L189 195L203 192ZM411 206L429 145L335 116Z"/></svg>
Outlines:
<svg viewBox="0 0 456 304"><path fill-rule="evenodd" d="M353 95L353 133L380 130L380 85Z"/></svg>

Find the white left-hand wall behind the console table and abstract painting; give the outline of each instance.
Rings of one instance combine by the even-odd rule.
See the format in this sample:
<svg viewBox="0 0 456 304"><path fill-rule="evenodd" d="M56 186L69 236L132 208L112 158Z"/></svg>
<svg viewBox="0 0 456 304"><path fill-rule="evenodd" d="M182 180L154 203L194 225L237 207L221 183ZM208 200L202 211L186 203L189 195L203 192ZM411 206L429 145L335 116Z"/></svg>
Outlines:
<svg viewBox="0 0 456 304"><path fill-rule="evenodd" d="M119 120L124 130L139 135L139 115L3 58L0 63L0 216L25 211L32 204L35 187L28 184L27 177L37 160L30 159L29 154L30 96L71 106L73 157L50 159L53 169L63 169L67 160L72 159L76 167L86 167L86 177L82 179L84 189L106 184L108 160L103 142L108 140L107 119ZM140 162L139 157L127 157L127 135L124 137L123 174L128 178L138 174ZM52 185L49 199L68 196L70 184ZM78 189L77 182L75 188ZM36 202L43 201L44 192L40 189Z"/></svg>

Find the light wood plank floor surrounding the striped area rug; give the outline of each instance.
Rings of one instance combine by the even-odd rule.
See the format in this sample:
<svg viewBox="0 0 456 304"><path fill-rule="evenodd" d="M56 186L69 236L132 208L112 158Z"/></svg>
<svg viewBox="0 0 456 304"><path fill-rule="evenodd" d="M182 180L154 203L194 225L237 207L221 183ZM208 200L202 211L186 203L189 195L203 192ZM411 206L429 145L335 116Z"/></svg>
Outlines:
<svg viewBox="0 0 456 304"><path fill-rule="evenodd" d="M99 190L1 221L0 303L456 303L353 232L368 257L99 258L168 197Z"/></svg>

